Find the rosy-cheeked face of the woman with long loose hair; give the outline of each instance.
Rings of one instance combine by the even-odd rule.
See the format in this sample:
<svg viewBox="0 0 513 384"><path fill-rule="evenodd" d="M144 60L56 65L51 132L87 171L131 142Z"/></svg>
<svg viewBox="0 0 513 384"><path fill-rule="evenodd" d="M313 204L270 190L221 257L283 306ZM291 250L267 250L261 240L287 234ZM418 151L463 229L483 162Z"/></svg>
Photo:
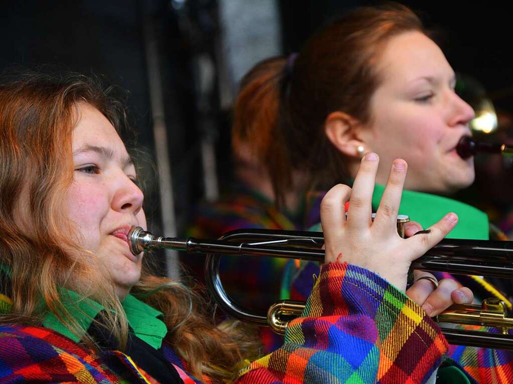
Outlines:
<svg viewBox="0 0 513 384"><path fill-rule="evenodd" d="M92 106L78 105L73 131L73 183L64 204L82 246L103 261L123 298L141 276L142 254L128 247L131 226L146 228L135 168L112 124Z"/></svg>

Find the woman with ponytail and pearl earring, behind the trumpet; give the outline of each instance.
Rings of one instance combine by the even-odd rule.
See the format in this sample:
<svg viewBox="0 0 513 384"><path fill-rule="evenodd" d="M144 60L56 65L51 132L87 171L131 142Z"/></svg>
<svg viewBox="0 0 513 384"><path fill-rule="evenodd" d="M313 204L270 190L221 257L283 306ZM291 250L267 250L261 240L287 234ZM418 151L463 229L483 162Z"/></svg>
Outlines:
<svg viewBox="0 0 513 384"><path fill-rule="evenodd" d="M488 239L484 212L445 197L474 180L473 159L456 152L461 137L470 135L473 111L455 93L455 73L444 54L408 8L350 11L312 36L299 54L259 63L244 84L234 108L233 141L249 143L266 165L278 202L290 191L350 184L362 157L372 152L381 159L376 185L371 186L374 209L394 159L408 164L400 206L381 205L420 223L407 234L450 210L460 221L449 237ZM303 175L300 183L295 174ZM361 208L358 199L352 200L349 217ZM320 221L320 201L307 203L305 216L313 222ZM294 272L295 298L310 293L311 275L317 270L308 263ZM456 290L455 301L468 299L452 276L443 277L447 279L435 292L424 279L426 291L412 295L424 302L429 315L451 300L445 291ZM500 292L479 276L458 279L481 298L496 296L511 308L507 296L513 292ZM513 355L508 352L451 347L451 356L480 382L513 380Z"/></svg>

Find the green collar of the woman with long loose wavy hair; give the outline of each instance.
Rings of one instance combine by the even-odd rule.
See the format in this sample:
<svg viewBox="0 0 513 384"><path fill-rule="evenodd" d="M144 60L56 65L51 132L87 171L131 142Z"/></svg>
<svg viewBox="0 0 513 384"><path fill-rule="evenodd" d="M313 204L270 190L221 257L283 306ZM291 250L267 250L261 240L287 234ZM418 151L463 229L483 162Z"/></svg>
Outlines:
<svg viewBox="0 0 513 384"><path fill-rule="evenodd" d="M64 307L85 330L89 329L92 319L104 310L102 305L69 289L61 290L61 299ZM130 294L126 296L122 306L135 335L153 348L159 349L167 333L166 325L162 321L163 314ZM72 333L51 311L43 316L43 326L69 337L74 342L81 340L81 337Z"/></svg>

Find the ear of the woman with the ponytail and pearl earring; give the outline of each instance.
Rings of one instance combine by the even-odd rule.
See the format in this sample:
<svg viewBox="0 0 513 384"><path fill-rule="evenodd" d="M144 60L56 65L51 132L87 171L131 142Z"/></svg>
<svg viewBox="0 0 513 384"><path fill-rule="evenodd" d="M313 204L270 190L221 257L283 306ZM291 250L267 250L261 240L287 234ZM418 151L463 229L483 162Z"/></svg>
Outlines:
<svg viewBox="0 0 513 384"><path fill-rule="evenodd" d="M359 136L359 127L359 121L344 112L332 112L324 122L324 132L331 144L342 154L356 159L363 155L358 151L358 147L363 147L364 151L368 152Z"/></svg>

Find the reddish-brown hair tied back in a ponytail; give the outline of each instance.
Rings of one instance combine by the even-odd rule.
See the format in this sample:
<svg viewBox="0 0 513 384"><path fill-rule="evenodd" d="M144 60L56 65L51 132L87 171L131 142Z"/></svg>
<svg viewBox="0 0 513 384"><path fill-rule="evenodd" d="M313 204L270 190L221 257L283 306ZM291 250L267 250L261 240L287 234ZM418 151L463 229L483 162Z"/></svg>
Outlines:
<svg viewBox="0 0 513 384"><path fill-rule="evenodd" d="M293 170L306 174L310 187L347 180L345 160L325 135L325 120L342 111L369 121L369 101L381 81L376 62L390 37L408 31L424 33L405 6L357 8L312 36L293 65L270 58L245 76L234 105L233 145L236 151L249 144L278 202L293 187Z"/></svg>

